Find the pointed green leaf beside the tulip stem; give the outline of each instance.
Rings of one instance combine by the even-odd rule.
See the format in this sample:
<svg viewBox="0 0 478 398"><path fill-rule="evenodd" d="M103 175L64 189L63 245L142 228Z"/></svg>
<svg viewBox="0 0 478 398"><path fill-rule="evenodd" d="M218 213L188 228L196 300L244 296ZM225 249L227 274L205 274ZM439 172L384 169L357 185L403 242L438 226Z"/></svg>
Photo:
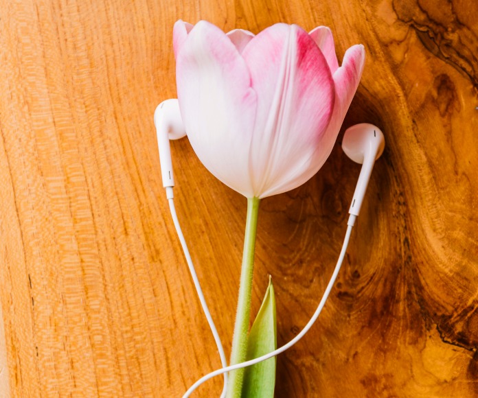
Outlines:
<svg viewBox="0 0 478 398"><path fill-rule="evenodd" d="M269 277L269 286L249 333L247 360L258 358L276 348L275 296L272 279ZM275 357L273 357L246 368L242 384L242 398L274 397L275 361Z"/></svg>

